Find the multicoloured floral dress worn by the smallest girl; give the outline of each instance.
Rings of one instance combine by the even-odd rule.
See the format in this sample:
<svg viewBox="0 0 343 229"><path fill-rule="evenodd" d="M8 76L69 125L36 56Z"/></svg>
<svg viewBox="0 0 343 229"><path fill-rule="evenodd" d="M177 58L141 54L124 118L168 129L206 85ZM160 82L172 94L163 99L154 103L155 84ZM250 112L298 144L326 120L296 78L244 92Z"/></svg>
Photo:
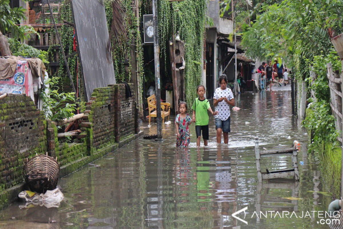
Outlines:
<svg viewBox="0 0 343 229"><path fill-rule="evenodd" d="M180 114L178 114L175 118L175 124L179 124L179 133L180 137L176 139L176 147L180 148L187 148L190 143L189 138L189 125L192 123L191 117L186 114L185 118L182 118Z"/></svg>

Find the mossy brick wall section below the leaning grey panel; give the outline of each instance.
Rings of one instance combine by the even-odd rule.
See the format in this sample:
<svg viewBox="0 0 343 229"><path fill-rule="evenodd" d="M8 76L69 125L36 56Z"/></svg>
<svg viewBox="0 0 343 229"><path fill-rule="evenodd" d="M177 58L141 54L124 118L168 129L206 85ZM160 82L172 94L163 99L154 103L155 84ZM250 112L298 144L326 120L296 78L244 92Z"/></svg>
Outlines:
<svg viewBox="0 0 343 229"><path fill-rule="evenodd" d="M91 154L137 132L133 84L129 85L132 93L130 98L125 97L125 84L94 89L83 120L91 123L91 127L85 128Z"/></svg>

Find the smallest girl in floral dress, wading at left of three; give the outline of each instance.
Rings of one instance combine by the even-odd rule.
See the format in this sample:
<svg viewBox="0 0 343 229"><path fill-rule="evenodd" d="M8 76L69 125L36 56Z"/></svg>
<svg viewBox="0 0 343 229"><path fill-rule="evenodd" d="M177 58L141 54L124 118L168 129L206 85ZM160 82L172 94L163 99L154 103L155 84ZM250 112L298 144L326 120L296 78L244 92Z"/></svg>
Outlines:
<svg viewBox="0 0 343 229"><path fill-rule="evenodd" d="M175 118L177 129L176 147L187 148L190 143L189 125L192 123L191 117L187 114L187 103L180 102L179 112Z"/></svg>

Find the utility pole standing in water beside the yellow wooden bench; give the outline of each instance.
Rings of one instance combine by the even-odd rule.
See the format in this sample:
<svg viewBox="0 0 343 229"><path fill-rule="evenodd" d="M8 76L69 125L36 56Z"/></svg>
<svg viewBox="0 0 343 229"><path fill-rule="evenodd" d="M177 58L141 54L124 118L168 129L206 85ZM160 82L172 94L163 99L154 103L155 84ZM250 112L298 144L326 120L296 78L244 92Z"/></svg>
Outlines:
<svg viewBox="0 0 343 229"><path fill-rule="evenodd" d="M154 58L155 58L155 96L156 96L156 118L157 139L162 139L162 117L161 117L161 79L159 77L159 47L158 47L158 22L157 22L157 0L152 0L152 13L154 18Z"/></svg>

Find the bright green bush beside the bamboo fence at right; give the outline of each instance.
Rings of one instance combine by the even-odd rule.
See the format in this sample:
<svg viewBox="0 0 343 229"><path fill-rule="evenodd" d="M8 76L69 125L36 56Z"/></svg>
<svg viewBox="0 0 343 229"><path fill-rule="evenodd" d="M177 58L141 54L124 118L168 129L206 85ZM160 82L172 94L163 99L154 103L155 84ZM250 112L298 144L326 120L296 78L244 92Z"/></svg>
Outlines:
<svg viewBox="0 0 343 229"><path fill-rule="evenodd" d="M334 117L331 108L326 101L312 103L306 113L304 126L313 131L312 144L310 149L319 148L322 142L333 142L337 144L338 132L335 130Z"/></svg>

